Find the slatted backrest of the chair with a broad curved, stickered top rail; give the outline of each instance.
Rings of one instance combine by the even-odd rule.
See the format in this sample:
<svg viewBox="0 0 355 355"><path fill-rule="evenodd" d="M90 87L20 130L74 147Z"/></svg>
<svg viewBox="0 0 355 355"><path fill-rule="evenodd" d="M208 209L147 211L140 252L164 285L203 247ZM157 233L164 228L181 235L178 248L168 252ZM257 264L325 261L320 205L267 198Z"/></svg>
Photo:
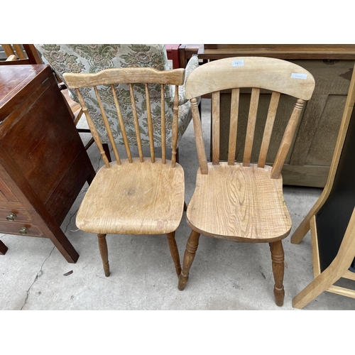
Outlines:
<svg viewBox="0 0 355 355"><path fill-rule="evenodd" d="M202 174L207 174L207 159L202 141L200 114L196 97L212 93L212 164L219 164L219 99L221 90L231 89L231 117L229 129L228 164L235 164L236 138L239 119L239 95L241 88L251 88L251 99L246 129L243 166L251 163L251 151L256 125L256 115L261 89L271 91L271 102L263 131L258 167L266 164L280 94L295 97L296 103L285 129L278 153L271 170L271 178L280 175L286 155L293 141L297 122L305 101L312 97L315 80L304 68L285 60L262 57L237 57L214 60L194 70L185 83L186 97L191 99L197 153Z"/></svg>

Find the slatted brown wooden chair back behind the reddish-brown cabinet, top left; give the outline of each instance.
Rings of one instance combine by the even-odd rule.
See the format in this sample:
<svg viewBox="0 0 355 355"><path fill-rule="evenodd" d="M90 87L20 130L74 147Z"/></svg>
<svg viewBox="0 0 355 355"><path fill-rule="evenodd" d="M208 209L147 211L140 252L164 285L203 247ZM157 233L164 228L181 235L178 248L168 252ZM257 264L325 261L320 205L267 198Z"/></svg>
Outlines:
<svg viewBox="0 0 355 355"><path fill-rule="evenodd" d="M4 49L6 56L11 60L9 65L43 64L33 44L2 44L1 47ZM13 59L16 61L12 62ZM4 65L8 63L2 62L1 64Z"/></svg>

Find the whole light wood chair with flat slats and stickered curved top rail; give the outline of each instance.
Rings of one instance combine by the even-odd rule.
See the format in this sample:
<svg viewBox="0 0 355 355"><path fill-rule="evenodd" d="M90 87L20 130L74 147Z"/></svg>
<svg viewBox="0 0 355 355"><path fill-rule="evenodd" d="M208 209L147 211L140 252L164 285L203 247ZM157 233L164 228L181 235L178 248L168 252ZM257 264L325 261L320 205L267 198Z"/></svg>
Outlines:
<svg viewBox="0 0 355 355"><path fill-rule="evenodd" d="M243 163L235 162L239 94L251 89L251 103ZM293 141L297 121L306 100L312 97L315 80L307 70L273 58L226 58L201 65L186 82L192 103L197 154L195 192L187 207L192 232L187 241L178 288L187 283L200 234L229 241L269 243L275 302L283 305L284 253L282 239L290 233L291 218L283 198L281 169ZM219 95L231 89L231 124L228 162L219 161ZM257 163L251 163L253 134L261 89L272 92ZM212 163L207 163L196 97L212 93ZM273 166L266 165L280 94L297 98ZM296 101L296 99L295 99Z"/></svg>

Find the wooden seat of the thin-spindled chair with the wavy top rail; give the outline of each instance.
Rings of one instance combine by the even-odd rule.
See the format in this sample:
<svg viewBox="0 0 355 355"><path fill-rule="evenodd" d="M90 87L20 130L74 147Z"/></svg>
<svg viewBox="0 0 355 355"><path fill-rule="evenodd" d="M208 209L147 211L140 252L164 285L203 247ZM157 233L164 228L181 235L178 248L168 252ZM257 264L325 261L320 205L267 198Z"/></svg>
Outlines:
<svg viewBox="0 0 355 355"><path fill-rule="evenodd" d="M96 234L168 234L181 221L184 172L181 165L139 158L103 166L77 213L77 227ZM171 187L174 187L172 190Z"/></svg>

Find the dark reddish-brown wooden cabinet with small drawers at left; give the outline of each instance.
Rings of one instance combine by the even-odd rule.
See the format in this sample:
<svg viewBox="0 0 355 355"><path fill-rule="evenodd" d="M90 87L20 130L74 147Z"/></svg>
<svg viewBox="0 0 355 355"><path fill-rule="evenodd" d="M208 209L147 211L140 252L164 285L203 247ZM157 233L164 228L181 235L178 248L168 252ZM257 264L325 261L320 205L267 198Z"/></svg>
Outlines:
<svg viewBox="0 0 355 355"><path fill-rule="evenodd" d="M60 224L94 175L50 67L0 66L0 233L49 238L75 263Z"/></svg>

